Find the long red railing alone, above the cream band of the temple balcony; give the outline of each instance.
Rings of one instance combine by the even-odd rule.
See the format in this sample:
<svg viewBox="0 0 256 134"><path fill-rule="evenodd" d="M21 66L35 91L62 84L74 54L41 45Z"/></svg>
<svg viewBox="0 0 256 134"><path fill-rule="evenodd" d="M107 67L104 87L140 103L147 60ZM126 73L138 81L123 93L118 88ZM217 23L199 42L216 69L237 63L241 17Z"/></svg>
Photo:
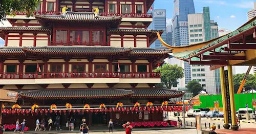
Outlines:
<svg viewBox="0 0 256 134"><path fill-rule="evenodd" d="M42 79L42 78L161 78L160 73L2 73L0 79Z"/></svg>

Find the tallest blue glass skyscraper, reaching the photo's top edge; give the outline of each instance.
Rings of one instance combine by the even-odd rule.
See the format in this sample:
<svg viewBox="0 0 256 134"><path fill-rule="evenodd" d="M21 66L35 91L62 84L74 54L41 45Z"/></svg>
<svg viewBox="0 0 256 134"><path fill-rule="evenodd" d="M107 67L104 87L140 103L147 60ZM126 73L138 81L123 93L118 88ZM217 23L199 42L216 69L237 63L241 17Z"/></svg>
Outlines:
<svg viewBox="0 0 256 134"><path fill-rule="evenodd" d="M193 0L175 0L173 12L173 46L189 45L187 15L195 13ZM191 81L191 70L188 62L184 62L185 83Z"/></svg>

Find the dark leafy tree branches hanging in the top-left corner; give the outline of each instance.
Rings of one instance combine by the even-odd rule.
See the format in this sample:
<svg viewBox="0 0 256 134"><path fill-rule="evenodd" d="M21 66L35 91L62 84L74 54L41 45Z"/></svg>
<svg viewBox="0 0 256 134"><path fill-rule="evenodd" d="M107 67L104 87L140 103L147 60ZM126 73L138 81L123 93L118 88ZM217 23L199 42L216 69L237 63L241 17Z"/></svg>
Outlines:
<svg viewBox="0 0 256 134"><path fill-rule="evenodd" d="M6 15L15 16L16 12L26 12L27 17L33 16L39 0L1 0L0 21L6 20Z"/></svg>

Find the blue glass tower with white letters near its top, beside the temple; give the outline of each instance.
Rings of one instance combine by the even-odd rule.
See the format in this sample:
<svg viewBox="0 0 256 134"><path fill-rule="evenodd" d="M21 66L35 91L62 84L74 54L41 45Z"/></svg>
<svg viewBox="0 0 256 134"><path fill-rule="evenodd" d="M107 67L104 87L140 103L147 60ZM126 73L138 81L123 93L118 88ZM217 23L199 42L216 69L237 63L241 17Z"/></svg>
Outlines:
<svg viewBox="0 0 256 134"><path fill-rule="evenodd" d="M167 42L166 41L166 10L155 9L153 14L154 14L153 15L154 29L163 30L161 37L165 42ZM164 49L165 47L162 46L162 43L159 40L156 40L151 45L151 48Z"/></svg>

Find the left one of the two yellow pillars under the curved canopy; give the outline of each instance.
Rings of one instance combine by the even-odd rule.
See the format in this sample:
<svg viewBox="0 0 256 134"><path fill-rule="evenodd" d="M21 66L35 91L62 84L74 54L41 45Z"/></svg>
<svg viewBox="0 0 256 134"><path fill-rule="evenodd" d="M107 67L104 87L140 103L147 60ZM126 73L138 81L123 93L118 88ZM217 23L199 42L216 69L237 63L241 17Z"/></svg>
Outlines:
<svg viewBox="0 0 256 134"><path fill-rule="evenodd" d="M227 115L227 99L226 99L226 87L225 87L225 73L224 67L220 68L221 76L221 96L222 96L222 105L223 105L223 115L224 115L224 125L225 129L229 129L230 125L228 124L228 115Z"/></svg>

